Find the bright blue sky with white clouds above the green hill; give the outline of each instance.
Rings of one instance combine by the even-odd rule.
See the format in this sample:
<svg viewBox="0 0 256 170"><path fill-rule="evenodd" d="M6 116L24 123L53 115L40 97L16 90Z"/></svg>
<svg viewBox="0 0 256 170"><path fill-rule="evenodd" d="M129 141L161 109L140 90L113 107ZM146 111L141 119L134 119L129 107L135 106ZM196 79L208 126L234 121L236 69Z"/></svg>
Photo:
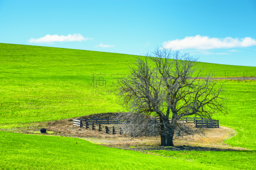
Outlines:
<svg viewBox="0 0 256 170"><path fill-rule="evenodd" d="M256 66L256 1L1 1L0 43L140 55L158 46Z"/></svg>

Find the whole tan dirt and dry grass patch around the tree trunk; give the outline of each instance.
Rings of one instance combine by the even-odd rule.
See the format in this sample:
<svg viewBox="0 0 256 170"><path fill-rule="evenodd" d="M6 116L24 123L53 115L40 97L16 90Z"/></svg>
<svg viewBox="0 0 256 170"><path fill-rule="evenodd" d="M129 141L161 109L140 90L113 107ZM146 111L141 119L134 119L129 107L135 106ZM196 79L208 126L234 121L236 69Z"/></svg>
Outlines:
<svg viewBox="0 0 256 170"><path fill-rule="evenodd" d="M68 137L82 138L91 143L103 146L120 148L134 151L172 150L172 151L232 151L248 150L246 148L232 147L225 143L236 135L236 131L231 128L208 128L205 136L174 136L172 147L160 146L160 137L140 137L132 140L123 135L112 135L97 130L80 128L72 125L73 119L38 122L22 124L19 128L0 129L1 131L18 132L24 134L40 134L40 128L47 128L47 134L40 135L61 135Z"/></svg>

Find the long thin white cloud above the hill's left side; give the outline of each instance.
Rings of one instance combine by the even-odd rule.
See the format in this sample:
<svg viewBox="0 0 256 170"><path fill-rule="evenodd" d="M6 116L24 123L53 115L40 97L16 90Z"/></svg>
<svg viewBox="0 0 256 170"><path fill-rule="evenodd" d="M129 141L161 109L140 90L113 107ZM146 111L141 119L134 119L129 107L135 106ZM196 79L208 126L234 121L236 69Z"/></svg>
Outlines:
<svg viewBox="0 0 256 170"><path fill-rule="evenodd" d="M65 35L50 35L47 34L41 38L31 38L28 40L29 43L53 43L53 42L72 42L72 41L85 41L85 40L92 40L92 38L84 38L81 34L68 34Z"/></svg>

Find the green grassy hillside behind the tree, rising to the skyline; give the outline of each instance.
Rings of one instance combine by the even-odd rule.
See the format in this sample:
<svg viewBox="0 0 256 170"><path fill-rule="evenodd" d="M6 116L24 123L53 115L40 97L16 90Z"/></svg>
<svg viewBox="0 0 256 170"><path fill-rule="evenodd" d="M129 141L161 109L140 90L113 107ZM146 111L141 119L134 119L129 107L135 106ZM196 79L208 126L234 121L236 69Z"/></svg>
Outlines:
<svg viewBox="0 0 256 170"><path fill-rule="evenodd" d="M114 80L111 74L129 73L127 66L137 57L3 43L0 49L0 124L116 112L120 106L115 104L115 95L106 92ZM206 71L256 73L256 67L200 64L206 65ZM106 88L90 86L92 73L106 74Z"/></svg>

